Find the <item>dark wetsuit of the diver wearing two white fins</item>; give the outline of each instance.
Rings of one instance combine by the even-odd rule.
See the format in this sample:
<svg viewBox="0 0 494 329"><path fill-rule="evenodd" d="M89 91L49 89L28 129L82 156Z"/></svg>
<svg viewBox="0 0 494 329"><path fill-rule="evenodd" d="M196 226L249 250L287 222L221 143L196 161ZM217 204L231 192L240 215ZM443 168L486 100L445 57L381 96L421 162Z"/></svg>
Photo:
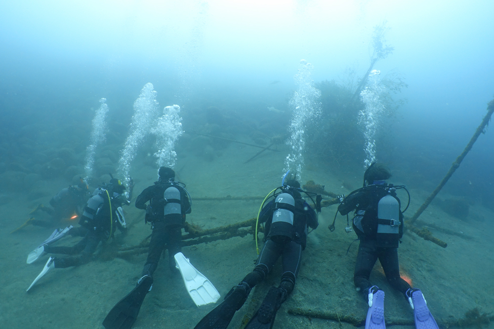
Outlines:
<svg viewBox="0 0 494 329"><path fill-rule="evenodd" d="M118 198L110 199L112 208L112 216L110 216L110 204L108 202L108 198L104 195L104 193L102 193L101 195L104 201L101 204L101 207L94 214L94 218L92 220L89 220L89 223L86 224L86 227L73 228L69 231L70 233L72 230L74 230L74 232L78 232L78 234L85 232L85 235L81 241L79 241L72 247L53 247L47 245L44 246L44 251L48 254L80 254L80 256L75 257L55 258L55 268L79 266L87 263L91 259L91 256L94 254L101 241L107 241L110 235L113 235L115 233L115 230L117 228L124 231L124 229L118 224L118 220L116 220L115 214L116 209L120 207L122 203ZM82 221L83 219L84 216L82 216ZM111 223L112 220L113 223Z"/></svg>

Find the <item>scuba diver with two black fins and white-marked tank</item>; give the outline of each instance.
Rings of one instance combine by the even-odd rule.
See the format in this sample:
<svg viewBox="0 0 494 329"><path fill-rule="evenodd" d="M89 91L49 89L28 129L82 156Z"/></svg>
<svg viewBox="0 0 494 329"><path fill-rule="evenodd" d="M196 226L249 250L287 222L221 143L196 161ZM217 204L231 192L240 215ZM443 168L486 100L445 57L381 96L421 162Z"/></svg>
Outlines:
<svg viewBox="0 0 494 329"><path fill-rule="evenodd" d="M280 191L277 192L277 190ZM272 195L269 196L271 193ZM312 194L300 189L300 183L296 181L296 173L290 174L288 170L283 177L282 186L271 191L261 204L262 210L259 209L258 223L265 223L264 247L254 270L248 273L236 287L233 287L225 296L224 301L209 312L195 329L226 329L235 312L240 310L246 302L250 290L264 280L276 260L282 256L283 273L280 285L269 289L261 306L245 328L268 329L273 327L276 312L295 286L301 265L302 250L307 244L307 228L315 229L318 226L316 212L305 202L300 193L305 193L309 197ZM270 197L274 199L263 207ZM317 200L314 204L320 212L320 195ZM259 254L258 249L257 253Z"/></svg>

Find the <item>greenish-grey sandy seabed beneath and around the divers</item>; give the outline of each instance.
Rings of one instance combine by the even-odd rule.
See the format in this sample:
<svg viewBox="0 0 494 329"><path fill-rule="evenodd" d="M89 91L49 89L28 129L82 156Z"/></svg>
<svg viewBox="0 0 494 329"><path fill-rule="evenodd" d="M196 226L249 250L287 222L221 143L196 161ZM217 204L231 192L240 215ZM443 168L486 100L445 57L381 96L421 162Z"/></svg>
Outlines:
<svg viewBox="0 0 494 329"><path fill-rule="evenodd" d="M206 202L194 201L194 198L266 195L281 182L287 152L265 151L253 161L243 164L257 151L249 146L231 144L222 156L210 162L192 155L184 157L179 153L175 168L180 170L179 179L187 184L193 198L192 214L187 216L187 221L210 228L254 218L261 200ZM302 183L313 179L326 185L328 191L345 194L350 190L341 186L342 181L351 183L355 188L361 184L361 172L341 174L317 163L307 167L310 169L302 174ZM135 196L156 180L156 170L136 160L131 175L136 182L135 201ZM394 177L392 183L407 184L406 173L399 172L399 175ZM438 182L440 179L438 177ZM19 193L9 203L0 205L0 328L103 328L101 323L108 311L135 287L140 277L147 254L122 259L112 257L111 253L102 253L101 257L80 267L51 270L30 292L26 292L47 256L33 264L26 264L26 257L53 229L29 226L20 232L9 233L29 218L29 211L38 203L47 203L66 185L63 180L53 181L45 186L49 197L27 200L26 195ZM406 213L408 216L412 216L430 191L412 189L410 192L412 203ZM400 197L405 203L405 193ZM144 224L143 211L136 209L133 203L124 210L130 225L128 235L124 239L118 237L105 246L107 251L137 245L151 233L150 226ZM327 227L335 210L336 206L324 208L318 229L309 235L295 289L278 311L275 329L354 328L345 322L288 314L289 309L295 308L332 312L342 317L351 315L365 320L367 300L355 291L353 285L358 244L354 243L346 255L356 235L353 232L345 233L346 219L342 216L337 218L336 230L329 232ZM42 215L37 217L42 218ZM486 220L461 221L431 205L420 220L462 233L450 235L431 228L437 238L448 243L448 247L443 249L407 232L399 248L402 275L409 276L413 286L422 290L438 323L462 318L465 312L474 308L479 308L481 313L494 311L494 214L475 205L470 207L469 217L473 216L483 216ZM259 236L262 237L262 234ZM57 244L73 245L77 241L78 238L67 237ZM251 235L185 247L183 253L220 292L220 301L252 270L257 258ZM103 257L103 254L110 256ZM279 284L280 274L281 265L278 262L265 282L252 290L229 328L242 328L244 315L255 312L269 287ZM389 287L378 264L372 272L371 282L386 294L386 320L411 324L413 313L408 302L401 293ZM132 328L193 328L215 305L196 307L181 278L170 273L167 261L163 259L154 275L153 290L146 296ZM393 326L399 327L412 328ZM489 328L493 327L491 322Z"/></svg>

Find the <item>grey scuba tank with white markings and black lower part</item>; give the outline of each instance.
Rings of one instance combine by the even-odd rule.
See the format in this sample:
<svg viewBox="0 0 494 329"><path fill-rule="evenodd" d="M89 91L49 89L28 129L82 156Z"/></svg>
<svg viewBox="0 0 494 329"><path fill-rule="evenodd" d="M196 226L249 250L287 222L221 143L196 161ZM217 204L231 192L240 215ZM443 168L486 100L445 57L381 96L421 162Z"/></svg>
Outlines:
<svg viewBox="0 0 494 329"><path fill-rule="evenodd" d="M281 193L275 199L275 211L269 229L269 237L275 242L288 242L293 239L293 212L295 199L288 193Z"/></svg>

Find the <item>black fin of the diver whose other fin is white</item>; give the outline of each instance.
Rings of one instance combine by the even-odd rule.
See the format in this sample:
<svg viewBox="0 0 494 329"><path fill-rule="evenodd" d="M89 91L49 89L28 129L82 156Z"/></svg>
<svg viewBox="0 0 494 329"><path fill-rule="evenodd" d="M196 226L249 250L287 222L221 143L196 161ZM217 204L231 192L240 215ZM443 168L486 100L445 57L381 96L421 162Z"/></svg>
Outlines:
<svg viewBox="0 0 494 329"><path fill-rule="evenodd" d="M143 276L137 282L137 286L112 308L103 320L103 326L106 329L130 329L152 285L153 278L149 275Z"/></svg>

